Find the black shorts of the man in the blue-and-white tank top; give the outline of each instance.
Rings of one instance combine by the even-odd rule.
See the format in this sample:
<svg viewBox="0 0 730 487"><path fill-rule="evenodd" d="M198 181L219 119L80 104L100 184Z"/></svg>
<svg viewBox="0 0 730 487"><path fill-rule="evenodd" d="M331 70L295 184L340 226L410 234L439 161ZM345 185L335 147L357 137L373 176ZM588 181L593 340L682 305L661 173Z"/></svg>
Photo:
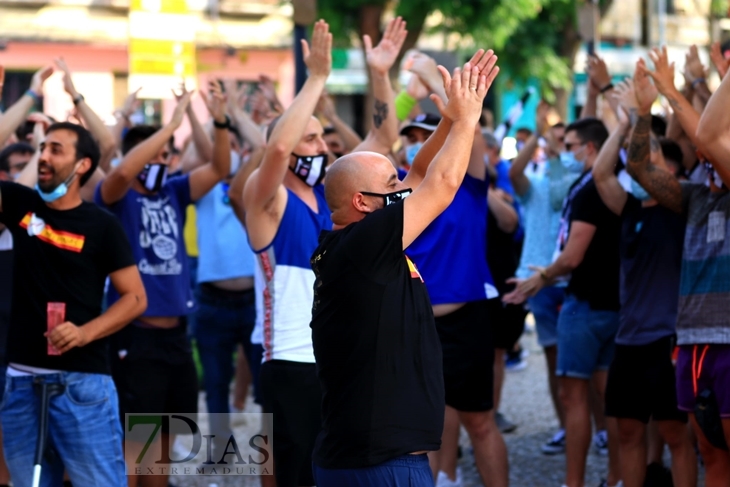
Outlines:
<svg viewBox="0 0 730 487"><path fill-rule="evenodd" d="M269 360L260 380L264 413L273 414L276 486L314 485L312 450L322 429L316 365Z"/></svg>

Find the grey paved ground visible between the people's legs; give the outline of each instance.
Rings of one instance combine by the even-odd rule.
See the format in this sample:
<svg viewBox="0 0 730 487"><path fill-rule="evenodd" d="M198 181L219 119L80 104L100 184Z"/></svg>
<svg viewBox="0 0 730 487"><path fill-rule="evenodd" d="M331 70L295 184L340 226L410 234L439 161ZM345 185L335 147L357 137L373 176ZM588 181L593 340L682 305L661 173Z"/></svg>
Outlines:
<svg viewBox="0 0 730 487"><path fill-rule="evenodd" d="M535 341L535 335L527 333L522 339L523 347L530 351L529 366L520 372L508 373L505 381L502 412L519 427L514 433L505 435L510 463L510 485L512 487L560 487L564 480L564 455L546 456L540 446L555 432L555 420L549 401L545 359ZM204 403L201 395L201 411ZM249 403L248 411L256 406ZM204 415L203 415L204 417ZM239 431L256 431L258 424L250 421L240 425ZM464 474L464 487L479 487L482 483L474 466L469 440L462 431L464 456L460 466ZM598 486L606 476L607 458L595 453L589 454L586 473L586 487ZM258 487L255 477L176 477L172 481L178 487ZM700 482L699 485L703 485Z"/></svg>

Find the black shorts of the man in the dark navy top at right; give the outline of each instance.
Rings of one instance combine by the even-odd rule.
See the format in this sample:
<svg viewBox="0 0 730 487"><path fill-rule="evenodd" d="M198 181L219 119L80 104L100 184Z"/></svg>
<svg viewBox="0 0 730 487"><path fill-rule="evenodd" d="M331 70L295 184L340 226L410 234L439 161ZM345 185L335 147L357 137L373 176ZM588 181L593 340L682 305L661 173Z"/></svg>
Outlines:
<svg viewBox="0 0 730 487"><path fill-rule="evenodd" d="M673 348L673 336L647 345L616 345L606 384L606 416L687 422L687 414L677 408Z"/></svg>

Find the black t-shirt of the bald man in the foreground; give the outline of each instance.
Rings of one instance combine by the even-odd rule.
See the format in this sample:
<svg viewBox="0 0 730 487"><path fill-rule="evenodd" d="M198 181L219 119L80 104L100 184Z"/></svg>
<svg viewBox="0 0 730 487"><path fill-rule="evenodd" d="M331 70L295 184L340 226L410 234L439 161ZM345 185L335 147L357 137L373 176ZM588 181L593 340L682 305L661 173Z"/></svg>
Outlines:
<svg viewBox="0 0 730 487"><path fill-rule="evenodd" d="M402 235L397 203L323 233L312 256L312 342L323 392L313 460L323 468L368 467L440 447L441 344Z"/></svg>

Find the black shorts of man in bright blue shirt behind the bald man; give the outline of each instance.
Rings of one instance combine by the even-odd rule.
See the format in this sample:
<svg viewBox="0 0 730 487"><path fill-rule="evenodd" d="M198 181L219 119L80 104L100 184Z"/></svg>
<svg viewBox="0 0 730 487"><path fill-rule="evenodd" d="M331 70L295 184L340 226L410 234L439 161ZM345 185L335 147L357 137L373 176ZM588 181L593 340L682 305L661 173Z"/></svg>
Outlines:
<svg viewBox="0 0 730 487"><path fill-rule="evenodd" d="M446 405L457 411L494 407L494 345L487 301L436 318L444 357Z"/></svg>

